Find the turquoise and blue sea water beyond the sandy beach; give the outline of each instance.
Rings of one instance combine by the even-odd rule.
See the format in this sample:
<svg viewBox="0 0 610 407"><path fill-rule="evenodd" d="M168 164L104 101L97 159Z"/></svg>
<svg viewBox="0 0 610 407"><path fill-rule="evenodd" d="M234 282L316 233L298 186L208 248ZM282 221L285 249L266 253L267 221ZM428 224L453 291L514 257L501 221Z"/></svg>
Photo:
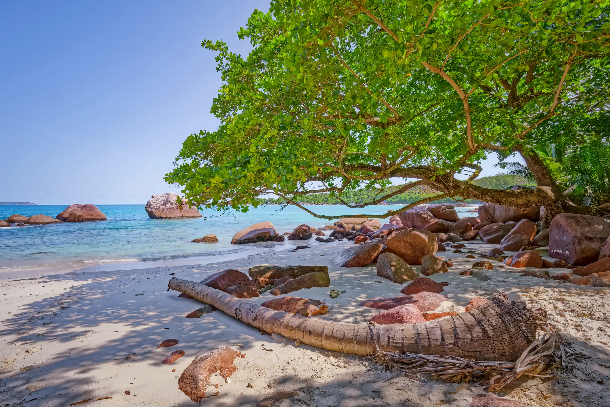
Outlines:
<svg viewBox="0 0 610 407"><path fill-rule="evenodd" d="M68 205L0 205L0 219L13 214L56 217ZM231 245L235 232L254 223L270 221L279 233L302 223L319 228L334 223L315 218L295 206L267 205L246 213L189 219L150 219L144 205L96 205L107 220L54 225L0 228L0 272L54 268L82 268L120 264L139 268L156 265L201 264L241 257L270 248L284 250L296 242ZM401 205L348 209L343 206L307 206L317 214L383 214ZM457 208L461 217L469 208ZM204 210L202 215L220 212ZM386 220L387 222L387 220ZM384 223L382 221L382 223ZM218 243L192 243L213 233ZM137 264L137 265L136 265ZM144 265L142 265L144 264Z"/></svg>

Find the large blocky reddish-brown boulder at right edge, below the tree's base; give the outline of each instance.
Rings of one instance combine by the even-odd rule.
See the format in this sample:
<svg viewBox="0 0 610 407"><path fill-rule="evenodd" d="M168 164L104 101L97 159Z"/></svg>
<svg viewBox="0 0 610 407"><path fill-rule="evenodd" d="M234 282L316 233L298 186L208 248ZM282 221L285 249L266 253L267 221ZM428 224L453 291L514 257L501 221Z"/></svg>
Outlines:
<svg viewBox="0 0 610 407"><path fill-rule="evenodd" d="M548 254L569 264L587 265L598 260L608 236L608 218L559 214L548 227Z"/></svg>

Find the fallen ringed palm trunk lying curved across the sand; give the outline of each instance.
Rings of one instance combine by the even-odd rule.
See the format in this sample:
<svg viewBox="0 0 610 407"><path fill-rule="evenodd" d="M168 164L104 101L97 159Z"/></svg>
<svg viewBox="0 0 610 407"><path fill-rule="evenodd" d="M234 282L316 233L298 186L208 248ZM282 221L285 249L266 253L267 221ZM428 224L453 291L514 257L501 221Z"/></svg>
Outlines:
<svg viewBox="0 0 610 407"><path fill-rule="evenodd" d="M537 322L525 303L497 296L470 312L425 323L373 325L301 317L249 303L220 290L172 278L183 292L267 333L354 355L418 353L477 361L517 361L536 340Z"/></svg>

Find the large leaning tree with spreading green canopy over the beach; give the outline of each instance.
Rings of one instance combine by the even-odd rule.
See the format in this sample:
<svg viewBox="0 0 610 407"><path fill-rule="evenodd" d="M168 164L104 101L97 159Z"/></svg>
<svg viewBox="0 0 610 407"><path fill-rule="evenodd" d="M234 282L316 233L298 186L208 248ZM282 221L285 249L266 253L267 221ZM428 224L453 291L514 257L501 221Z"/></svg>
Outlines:
<svg viewBox="0 0 610 407"><path fill-rule="evenodd" d="M362 207L428 185L442 193L401 211L454 196L543 205L547 221L582 211L533 146L608 110L609 11L609 0L273 1L238 33L253 45L245 59L203 41L218 53L221 124L187 138L166 180L218 209L245 210L262 193L293 203L378 190L345 202ZM521 154L539 187L474 185L490 152ZM417 181L387 193L392 178Z"/></svg>

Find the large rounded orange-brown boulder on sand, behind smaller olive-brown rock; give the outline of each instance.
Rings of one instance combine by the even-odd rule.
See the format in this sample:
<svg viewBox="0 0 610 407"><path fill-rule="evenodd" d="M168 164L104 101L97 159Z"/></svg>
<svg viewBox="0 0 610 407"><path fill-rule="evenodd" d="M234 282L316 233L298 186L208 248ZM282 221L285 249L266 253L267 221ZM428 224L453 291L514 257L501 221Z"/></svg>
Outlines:
<svg viewBox="0 0 610 407"><path fill-rule="evenodd" d="M422 264L423 256L437 250L436 237L428 231L410 228L393 232L386 239L387 250L408 264Z"/></svg>

